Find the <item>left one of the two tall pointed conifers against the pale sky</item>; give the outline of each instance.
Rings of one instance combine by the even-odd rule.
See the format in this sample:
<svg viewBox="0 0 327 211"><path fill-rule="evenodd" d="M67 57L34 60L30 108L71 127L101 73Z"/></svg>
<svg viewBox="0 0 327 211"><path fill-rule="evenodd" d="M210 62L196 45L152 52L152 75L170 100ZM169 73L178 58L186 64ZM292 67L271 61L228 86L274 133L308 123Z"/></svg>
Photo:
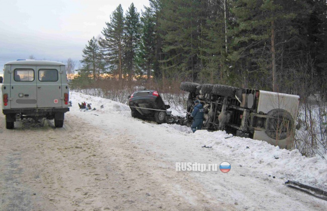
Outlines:
<svg viewBox="0 0 327 211"><path fill-rule="evenodd" d="M124 28L125 17L123 8L119 5L110 16L110 23L106 22L107 28L104 28L103 39L99 43L103 55L105 56L107 66L116 73L118 72L119 80L122 80L122 67L124 56Z"/></svg>

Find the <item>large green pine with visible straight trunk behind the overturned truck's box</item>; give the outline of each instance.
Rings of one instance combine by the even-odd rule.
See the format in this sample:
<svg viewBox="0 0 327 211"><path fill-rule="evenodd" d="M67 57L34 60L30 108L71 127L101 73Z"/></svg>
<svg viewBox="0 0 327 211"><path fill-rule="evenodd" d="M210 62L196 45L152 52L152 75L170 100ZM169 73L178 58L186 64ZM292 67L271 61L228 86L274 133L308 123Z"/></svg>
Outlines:
<svg viewBox="0 0 327 211"><path fill-rule="evenodd" d="M231 12L235 23L229 59L236 63L235 69L247 69L253 82L263 78L256 87L277 91L277 70L286 68L285 54L290 58L294 52L294 36L299 33L294 20L306 12L305 2L238 0Z"/></svg>

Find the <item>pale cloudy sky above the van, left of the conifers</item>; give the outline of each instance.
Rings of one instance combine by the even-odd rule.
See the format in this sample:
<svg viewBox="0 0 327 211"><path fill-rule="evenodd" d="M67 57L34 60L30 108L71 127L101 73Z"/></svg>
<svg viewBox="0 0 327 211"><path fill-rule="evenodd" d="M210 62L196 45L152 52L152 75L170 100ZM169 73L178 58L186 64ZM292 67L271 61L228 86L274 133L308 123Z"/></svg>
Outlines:
<svg viewBox="0 0 327 211"><path fill-rule="evenodd" d="M148 0L0 0L1 70L6 62L30 55L78 62L119 4L126 12L132 2L138 12L149 6Z"/></svg>

